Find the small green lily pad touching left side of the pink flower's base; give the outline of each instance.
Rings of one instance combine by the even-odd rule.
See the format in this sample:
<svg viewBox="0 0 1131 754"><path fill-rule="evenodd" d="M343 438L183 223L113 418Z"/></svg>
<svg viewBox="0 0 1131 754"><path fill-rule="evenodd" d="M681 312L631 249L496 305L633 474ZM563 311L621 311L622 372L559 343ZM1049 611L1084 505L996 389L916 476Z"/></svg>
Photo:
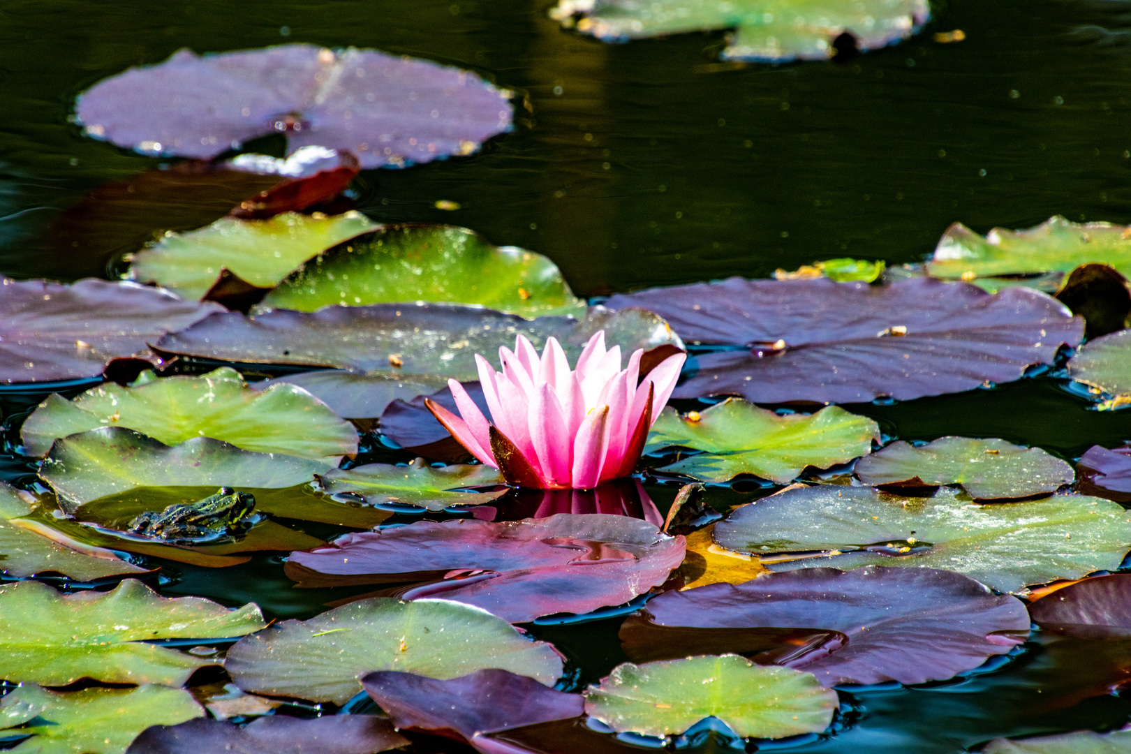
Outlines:
<svg viewBox="0 0 1131 754"><path fill-rule="evenodd" d="M502 497L507 489L459 492L466 487L503 485L499 469L482 463L454 463L435 468L417 458L409 466L366 463L318 475L327 494L353 493L370 505L398 503L430 511L449 505L482 505Z"/></svg>

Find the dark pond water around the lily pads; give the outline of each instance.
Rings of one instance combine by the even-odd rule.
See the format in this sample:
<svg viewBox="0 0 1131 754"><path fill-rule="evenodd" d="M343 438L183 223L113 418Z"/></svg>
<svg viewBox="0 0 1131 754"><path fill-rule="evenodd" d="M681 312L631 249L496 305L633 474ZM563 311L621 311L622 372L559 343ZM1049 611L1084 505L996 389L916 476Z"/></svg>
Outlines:
<svg viewBox="0 0 1131 754"><path fill-rule="evenodd" d="M215 197L195 196L143 203L132 219L113 207L68 213L95 188L163 162L84 138L68 121L74 98L180 47L282 42L428 58L523 95L528 106L513 132L470 157L365 172L355 201L378 222L457 224L538 251L581 296L766 277L834 257L916 262L952 222L979 233L1055 214L1131 222L1131 5L944 0L933 12L924 33L887 50L762 66L719 62L720 33L603 44L562 31L541 0L8 0L0 5L0 274L109 277L154 231L221 216ZM965 41L933 41L956 28ZM459 209L438 209L439 200ZM9 440L44 396L0 393ZM1093 444L1131 439L1131 415L1089 405L1053 372L846 408L877 418L892 437L996 436L1072 460ZM365 459L403 454L377 449ZM0 460L8 480L29 473L11 453ZM662 510L675 493L648 488ZM725 510L766 492L713 488L709 501ZM216 570L164 565L163 593L257 601L268 617L309 617L330 599L292 589L278 556ZM533 632L588 683L625 659L618 625ZM1035 635L1007 661L951 682L848 690L836 735L772 748L949 753L995 736L1129 720L1131 699L1079 691L1122 671L1107 678L1087 644ZM1124 657L1131 666L1131 650ZM1078 677L1089 670L1096 676ZM723 746L708 737L694 751Z"/></svg>

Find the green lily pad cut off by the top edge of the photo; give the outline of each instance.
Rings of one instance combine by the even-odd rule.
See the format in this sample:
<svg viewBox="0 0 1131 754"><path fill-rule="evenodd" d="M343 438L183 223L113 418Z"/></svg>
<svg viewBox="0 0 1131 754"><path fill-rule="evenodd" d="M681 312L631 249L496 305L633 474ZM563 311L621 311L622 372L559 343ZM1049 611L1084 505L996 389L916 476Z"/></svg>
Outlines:
<svg viewBox="0 0 1131 754"><path fill-rule="evenodd" d="M926 0L559 0L553 18L598 40L623 41L685 32L735 29L724 60L826 60L841 34L857 50L877 50L915 34L931 17ZM582 15L573 21L576 15Z"/></svg>

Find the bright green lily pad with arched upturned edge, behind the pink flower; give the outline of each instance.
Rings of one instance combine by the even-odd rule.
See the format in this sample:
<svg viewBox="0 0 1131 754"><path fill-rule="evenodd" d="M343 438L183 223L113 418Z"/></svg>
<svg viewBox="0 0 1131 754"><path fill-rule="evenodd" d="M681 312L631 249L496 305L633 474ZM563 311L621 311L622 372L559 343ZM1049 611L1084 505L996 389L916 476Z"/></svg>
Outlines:
<svg viewBox="0 0 1131 754"><path fill-rule="evenodd" d="M523 317L585 317L585 302L547 258L493 246L450 225L389 225L339 243L291 272L252 311L312 312L330 304L398 301L480 304Z"/></svg>

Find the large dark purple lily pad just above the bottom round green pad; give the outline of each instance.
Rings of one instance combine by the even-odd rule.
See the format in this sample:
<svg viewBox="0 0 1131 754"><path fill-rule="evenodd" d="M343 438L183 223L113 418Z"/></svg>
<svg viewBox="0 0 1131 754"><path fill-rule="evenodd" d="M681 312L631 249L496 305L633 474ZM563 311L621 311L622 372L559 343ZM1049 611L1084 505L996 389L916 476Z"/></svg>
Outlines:
<svg viewBox="0 0 1131 754"><path fill-rule="evenodd" d="M829 635L801 642L808 651L770 659L812 673L826 686L916 684L943 681L1004 655L1028 636L1029 615L1016 597L994 595L960 573L869 565L664 592L625 622L622 640L631 640L629 648L647 647L654 626L661 627L651 632L656 640L670 639L664 627L700 630L701 635L683 632L682 641L668 645L670 657L699 653L701 642L725 644L728 635L743 641L735 629L815 629Z"/></svg>

